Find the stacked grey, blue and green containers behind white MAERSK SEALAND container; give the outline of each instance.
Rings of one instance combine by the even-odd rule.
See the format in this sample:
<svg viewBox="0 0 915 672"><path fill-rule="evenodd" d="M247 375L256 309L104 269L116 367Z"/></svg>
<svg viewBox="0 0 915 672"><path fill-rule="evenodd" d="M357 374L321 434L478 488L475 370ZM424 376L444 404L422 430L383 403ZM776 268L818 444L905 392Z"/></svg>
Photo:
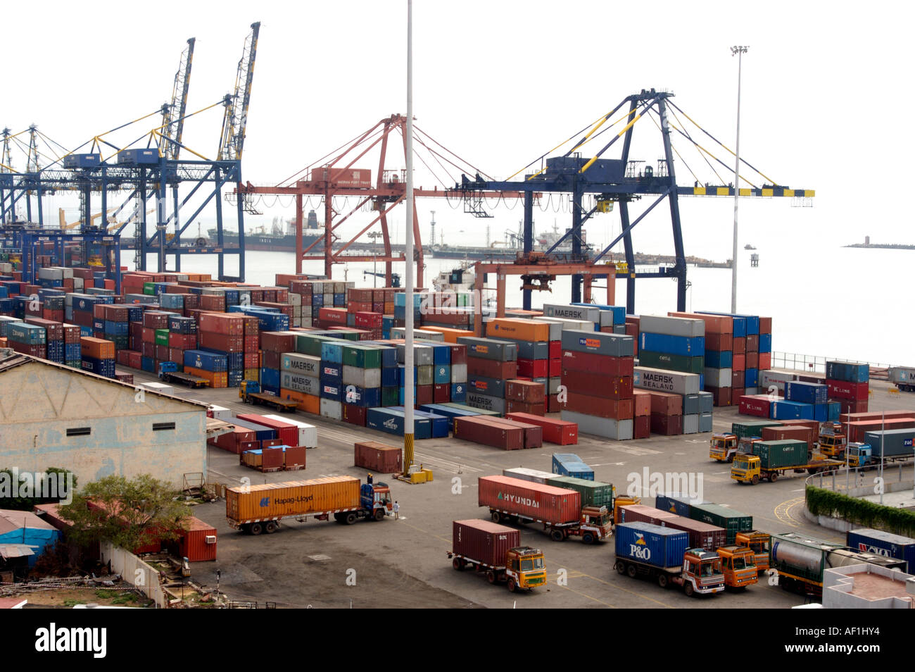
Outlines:
<svg viewBox="0 0 915 672"><path fill-rule="evenodd" d="M640 316L639 364L685 374L703 374L705 322L660 315ZM716 371L710 369L712 373ZM729 368L723 371L730 376Z"/></svg>

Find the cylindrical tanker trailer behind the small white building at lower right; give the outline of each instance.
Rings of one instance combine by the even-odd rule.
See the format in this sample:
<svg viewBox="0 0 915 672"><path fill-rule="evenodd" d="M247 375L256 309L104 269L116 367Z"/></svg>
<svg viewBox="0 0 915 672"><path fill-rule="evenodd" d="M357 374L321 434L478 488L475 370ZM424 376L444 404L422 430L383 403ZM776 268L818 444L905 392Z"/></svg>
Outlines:
<svg viewBox="0 0 915 672"><path fill-rule="evenodd" d="M823 572L826 569L862 563L902 571L906 568L905 560L863 553L794 532L772 535L769 562L770 567L779 573L782 588L815 597L823 596Z"/></svg>

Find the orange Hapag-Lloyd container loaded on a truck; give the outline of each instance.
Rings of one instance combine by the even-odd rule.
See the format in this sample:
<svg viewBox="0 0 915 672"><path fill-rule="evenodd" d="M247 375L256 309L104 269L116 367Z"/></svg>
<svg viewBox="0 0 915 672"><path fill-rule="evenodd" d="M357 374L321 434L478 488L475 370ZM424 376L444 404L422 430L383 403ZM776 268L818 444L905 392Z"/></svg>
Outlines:
<svg viewBox="0 0 915 672"><path fill-rule="evenodd" d="M235 526L286 515L350 511L359 508L359 486L359 479L352 476L328 476L229 488L226 518Z"/></svg>

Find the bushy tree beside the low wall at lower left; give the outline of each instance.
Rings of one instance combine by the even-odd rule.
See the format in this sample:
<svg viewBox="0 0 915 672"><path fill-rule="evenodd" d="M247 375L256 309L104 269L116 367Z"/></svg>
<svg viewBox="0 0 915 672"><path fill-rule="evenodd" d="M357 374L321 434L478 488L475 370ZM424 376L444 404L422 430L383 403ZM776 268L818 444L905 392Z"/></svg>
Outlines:
<svg viewBox="0 0 915 672"><path fill-rule="evenodd" d="M170 483L149 474L133 479L105 476L88 483L59 513L72 523L70 538L78 544L108 539L134 550L156 539L171 541L185 527L190 507Z"/></svg>

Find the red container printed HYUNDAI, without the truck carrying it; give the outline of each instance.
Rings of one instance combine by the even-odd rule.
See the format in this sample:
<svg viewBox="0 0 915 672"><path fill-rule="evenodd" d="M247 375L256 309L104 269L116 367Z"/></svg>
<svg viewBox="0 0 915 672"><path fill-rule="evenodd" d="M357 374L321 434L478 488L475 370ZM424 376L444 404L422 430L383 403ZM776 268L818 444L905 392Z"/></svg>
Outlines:
<svg viewBox="0 0 915 672"><path fill-rule="evenodd" d="M480 506L496 511L554 525L578 522L581 518L581 494L575 490L508 476L480 477L477 501Z"/></svg>

